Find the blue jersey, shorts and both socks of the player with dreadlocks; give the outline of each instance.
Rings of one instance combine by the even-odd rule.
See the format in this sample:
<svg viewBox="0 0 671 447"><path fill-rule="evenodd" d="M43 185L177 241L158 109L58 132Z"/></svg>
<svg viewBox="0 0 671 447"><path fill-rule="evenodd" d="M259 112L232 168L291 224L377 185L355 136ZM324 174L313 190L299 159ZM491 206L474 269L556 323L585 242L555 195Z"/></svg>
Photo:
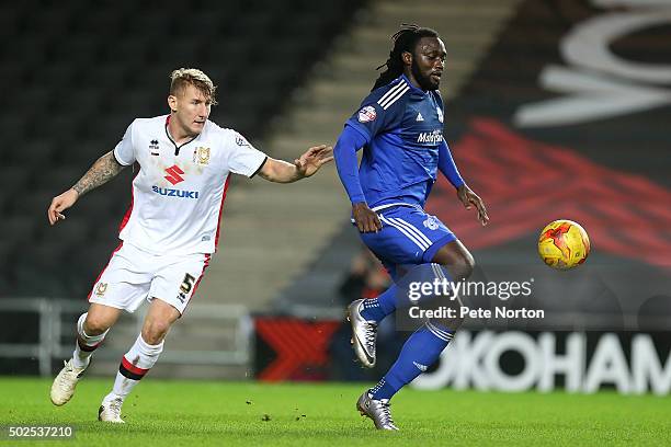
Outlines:
<svg viewBox="0 0 671 447"><path fill-rule="evenodd" d="M417 88L403 74L368 94L333 150L350 200L366 203L383 226L378 232L360 233L395 282L379 297L361 305L361 316L374 324L402 306L408 280L451 279L431 261L456 237L423 209L437 171L455 187L464 184L443 140L443 116L440 93ZM368 397L388 401L440 357L453 335L454 330L440 321L424 321L408 337L389 371L367 391Z"/></svg>

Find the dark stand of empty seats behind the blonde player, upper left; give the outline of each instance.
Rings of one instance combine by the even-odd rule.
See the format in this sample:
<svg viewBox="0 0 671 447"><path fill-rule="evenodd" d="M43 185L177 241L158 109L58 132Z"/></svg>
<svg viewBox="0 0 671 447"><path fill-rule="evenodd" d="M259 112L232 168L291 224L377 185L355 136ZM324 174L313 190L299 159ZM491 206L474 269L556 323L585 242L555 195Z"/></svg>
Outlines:
<svg viewBox="0 0 671 447"><path fill-rule="evenodd" d="M259 139L361 4L2 3L0 82L12 113L0 117L0 297L87 295L116 243L132 173L78 203L60 228L48 228L46 208L134 117L166 112L172 69L208 72L223 103L213 119Z"/></svg>

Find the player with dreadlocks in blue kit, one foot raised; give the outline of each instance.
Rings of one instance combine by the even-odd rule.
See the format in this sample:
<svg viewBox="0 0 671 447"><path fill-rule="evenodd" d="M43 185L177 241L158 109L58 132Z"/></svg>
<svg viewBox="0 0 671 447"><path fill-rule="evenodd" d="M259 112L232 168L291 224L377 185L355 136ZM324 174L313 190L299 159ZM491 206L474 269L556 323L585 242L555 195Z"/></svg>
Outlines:
<svg viewBox="0 0 671 447"><path fill-rule="evenodd" d="M408 298L409 277L457 282L473 272L468 250L423 209L437 171L467 209L477 208L482 225L489 220L443 140L437 91L446 56L443 42L435 31L417 25L403 25L393 39L389 59L378 67L386 70L346 122L334 149L338 173L352 202L352 221L395 282L378 298L355 300L348 309L354 351L366 367L375 365L377 325L402 306L399 297ZM459 324L422 321L389 371L359 398L359 411L379 429L398 429L389 399L439 358Z"/></svg>

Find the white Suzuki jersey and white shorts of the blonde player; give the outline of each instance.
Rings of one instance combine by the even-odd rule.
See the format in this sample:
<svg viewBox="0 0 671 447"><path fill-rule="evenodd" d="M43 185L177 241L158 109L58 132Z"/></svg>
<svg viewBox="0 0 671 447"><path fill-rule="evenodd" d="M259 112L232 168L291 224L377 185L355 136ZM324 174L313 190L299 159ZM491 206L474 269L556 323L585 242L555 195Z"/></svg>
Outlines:
<svg viewBox="0 0 671 447"><path fill-rule="evenodd" d="M135 119L114 148L123 165L137 162L122 243L89 294L90 302L135 311L159 298L183 313L216 250L230 173L253 176L266 156L240 134L207 121L178 146L170 117Z"/></svg>

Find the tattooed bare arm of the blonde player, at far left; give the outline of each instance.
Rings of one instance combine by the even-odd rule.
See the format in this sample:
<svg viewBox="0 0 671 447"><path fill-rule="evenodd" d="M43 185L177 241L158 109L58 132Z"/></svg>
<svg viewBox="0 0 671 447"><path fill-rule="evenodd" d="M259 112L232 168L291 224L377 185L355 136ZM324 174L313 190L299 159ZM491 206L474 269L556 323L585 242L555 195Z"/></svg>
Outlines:
<svg viewBox="0 0 671 447"><path fill-rule="evenodd" d="M64 210L75 205L80 196L114 179L124 168L126 167L116 161L113 151L99 158L75 186L52 199L47 210L49 224L54 225L65 219L61 214Z"/></svg>

